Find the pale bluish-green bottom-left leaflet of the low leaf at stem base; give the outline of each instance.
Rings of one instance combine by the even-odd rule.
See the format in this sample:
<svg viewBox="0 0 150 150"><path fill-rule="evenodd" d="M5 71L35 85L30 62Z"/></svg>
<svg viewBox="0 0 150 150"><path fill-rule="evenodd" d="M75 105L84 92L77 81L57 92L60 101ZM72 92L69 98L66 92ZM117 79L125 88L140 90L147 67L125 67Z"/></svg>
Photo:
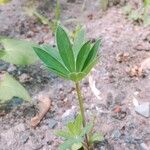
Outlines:
<svg viewBox="0 0 150 150"><path fill-rule="evenodd" d="M70 150L72 145L75 143L82 143L83 138L77 137L77 138L71 138L69 140L66 140L63 144L59 146L59 150Z"/></svg>

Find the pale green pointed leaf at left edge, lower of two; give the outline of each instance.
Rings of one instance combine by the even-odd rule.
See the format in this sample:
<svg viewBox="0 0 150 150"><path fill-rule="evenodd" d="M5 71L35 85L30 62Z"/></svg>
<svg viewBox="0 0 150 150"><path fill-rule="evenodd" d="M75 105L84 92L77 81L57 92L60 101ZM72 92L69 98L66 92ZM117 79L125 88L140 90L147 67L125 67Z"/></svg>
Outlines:
<svg viewBox="0 0 150 150"><path fill-rule="evenodd" d="M13 97L30 101L31 97L25 88L8 73L0 74L0 102L3 103Z"/></svg>

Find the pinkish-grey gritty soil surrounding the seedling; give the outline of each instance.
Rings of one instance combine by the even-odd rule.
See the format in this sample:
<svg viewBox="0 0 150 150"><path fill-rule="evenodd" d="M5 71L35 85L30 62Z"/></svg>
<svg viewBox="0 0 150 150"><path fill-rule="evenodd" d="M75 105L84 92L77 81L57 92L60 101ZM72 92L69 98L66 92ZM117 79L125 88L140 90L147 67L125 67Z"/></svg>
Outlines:
<svg viewBox="0 0 150 150"><path fill-rule="evenodd" d="M27 3L25 0L13 0L0 6L0 35L54 44L49 27L23 11ZM39 9L52 19L54 15L46 11L47 6L41 2L38 4ZM89 75L100 91L99 97L90 88L89 76L81 83L86 118L90 120L96 116L95 130L105 137L95 149L150 149L150 119L136 113L133 104L134 98L139 103L149 102L150 74L147 72L142 77L131 77L127 72L150 57L150 49L145 48L146 44L150 45L150 27L129 21L120 5L102 12L98 5L92 5L92 1L86 3L84 11L81 9L82 1L63 0L61 4L62 24L70 30L77 23L84 24L89 39L102 39L100 60ZM128 59L116 61L119 53L128 53ZM41 63L24 68L15 66L15 70L11 67L14 66L0 62L1 71L9 71L17 79L23 73L33 78L24 83L33 102L11 107L0 117L0 150L57 150L62 139L56 137L55 132L64 128L63 114L67 110L79 109L74 84L47 72ZM52 107L33 129L30 120L37 112L39 93L50 97Z"/></svg>

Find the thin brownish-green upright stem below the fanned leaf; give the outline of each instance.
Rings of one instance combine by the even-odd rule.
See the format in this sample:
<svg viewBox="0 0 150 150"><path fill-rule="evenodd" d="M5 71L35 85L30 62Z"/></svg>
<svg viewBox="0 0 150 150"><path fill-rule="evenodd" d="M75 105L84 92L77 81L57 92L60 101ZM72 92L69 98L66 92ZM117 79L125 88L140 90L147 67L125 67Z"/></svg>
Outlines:
<svg viewBox="0 0 150 150"><path fill-rule="evenodd" d="M84 107L83 107L83 98L81 95L81 89L80 89L80 85L79 82L76 82L76 91L77 91L77 95L78 95L78 101L79 101L79 106L80 106L80 112L81 112L81 116L82 116L82 124L83 127L86 126L86 121L85 121L85 114L84 114ZM88 136L87 134L85 135L85 142L87 145L87 149L89 150L89 141L88 141Z"/></svg>

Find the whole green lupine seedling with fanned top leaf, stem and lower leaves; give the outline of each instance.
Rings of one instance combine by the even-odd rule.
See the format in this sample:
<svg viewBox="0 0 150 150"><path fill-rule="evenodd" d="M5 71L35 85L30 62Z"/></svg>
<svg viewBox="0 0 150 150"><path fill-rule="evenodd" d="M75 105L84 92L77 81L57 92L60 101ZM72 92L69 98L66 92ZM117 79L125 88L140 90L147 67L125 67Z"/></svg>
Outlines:
<svg viewBox="0 0 150 150"><path fill-rule="evenodd" d="M36 54L51 72L73 81L76 86L81 116L79 115L74 122L69 123L66 131L58 133L65 138L64 144L60 146L61 150L75 150L81 147L90 150L88 133L91 130L91 125L87 125L85 120L79 83L98 61L100 40L92 44L90 41L85 41L84 37L85 31L81 29L72 44L66 31L58 26L56 30L57 46L55 48L50 45L42 45L41 48L34 47ZM92 138L94 139L94 137Z"/></svg>

